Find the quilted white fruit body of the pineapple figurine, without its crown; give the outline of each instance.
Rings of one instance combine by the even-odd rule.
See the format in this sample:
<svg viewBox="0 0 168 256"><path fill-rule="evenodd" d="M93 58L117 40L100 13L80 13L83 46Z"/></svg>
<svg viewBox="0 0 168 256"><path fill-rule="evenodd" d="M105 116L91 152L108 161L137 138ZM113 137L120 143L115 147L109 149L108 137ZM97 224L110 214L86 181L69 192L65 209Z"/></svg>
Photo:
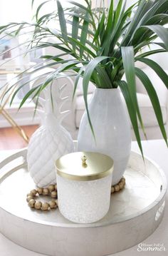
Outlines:
<svg viewBox="0 0 168 256"><path fill-rule="evenodd" d="M38 187L56 184L54 163L62 155L73 152L73 140L63 126L41 126L28 145L28 170Z"/></svg>

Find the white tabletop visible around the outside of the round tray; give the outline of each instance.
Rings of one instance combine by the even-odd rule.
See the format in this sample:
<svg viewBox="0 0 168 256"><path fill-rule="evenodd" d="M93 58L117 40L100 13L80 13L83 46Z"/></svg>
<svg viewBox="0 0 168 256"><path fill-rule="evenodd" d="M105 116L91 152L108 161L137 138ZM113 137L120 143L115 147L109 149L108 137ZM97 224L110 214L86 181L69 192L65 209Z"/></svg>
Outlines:
<svg viewBox="0 0 168 256"><path fill-rule="evenodd" d="M168 164L168 154L167 148L162 140L150 141L150 142L143 142L145 155L149 156L149 158L154 159L165 171L167 171L167 164ZM137 149L137 145L132 143L132 149ZM3 158L2 153L0 155ZM166 173L167 175L167 173ZM167 206L166 206L166 213L164 214L164 219L162 223L159 225L157 230L144 241L146 244L153 245L154 243L164 243L164 247L168 249L168 232L167 232ZM3 235L0 235L0 248L1 248L1 256L38 256L40 254L35 252L30 252L18 245L15 245L13 242L7 240ZM89 250L89 248L88 248ZM130 250L125 250L123 252L119 252L115 254L115 256L130 256L130 255L167 255L166 252L137 252L137 245L132 247ZM59 255L58 255L59 256ZM80 256L80 255L79 255ZM102 256L102 255L100 255Z"/></svg>

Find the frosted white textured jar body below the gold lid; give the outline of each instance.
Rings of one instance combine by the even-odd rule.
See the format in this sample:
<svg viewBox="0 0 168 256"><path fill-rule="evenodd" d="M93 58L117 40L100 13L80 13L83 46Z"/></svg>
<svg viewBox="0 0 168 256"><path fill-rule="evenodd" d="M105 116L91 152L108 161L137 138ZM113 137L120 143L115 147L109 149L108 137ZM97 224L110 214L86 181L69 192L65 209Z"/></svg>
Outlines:
<svg viewBox="0 0 168 256"><path fill-rule="evenodd" d="M57 175L58 205L62 215L77 223L102 219L110 207L112 173L92 181L67 180Z"/></svg>

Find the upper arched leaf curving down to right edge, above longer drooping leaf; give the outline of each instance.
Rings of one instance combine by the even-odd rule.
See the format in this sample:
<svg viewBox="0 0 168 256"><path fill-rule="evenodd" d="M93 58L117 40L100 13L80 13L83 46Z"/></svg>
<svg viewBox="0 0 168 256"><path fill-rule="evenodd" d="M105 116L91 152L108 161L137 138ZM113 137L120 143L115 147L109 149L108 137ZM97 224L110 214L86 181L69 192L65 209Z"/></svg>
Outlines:
<svg viewBox="0 0 168 256"><path fill-rule="evenodd" d="M152 61L149 58L136 58L136 59L137 61L141 61L147 64L147 66L149 66L150 68L152 68L155 71L155 73L157 73L157 76L159 76L159 78L163 81L165 86L167 86L167 89L168 89L168 76L167 76L167 73L163 70L163 68L161 68L161 66L159 66L155 61Z"/></svg>

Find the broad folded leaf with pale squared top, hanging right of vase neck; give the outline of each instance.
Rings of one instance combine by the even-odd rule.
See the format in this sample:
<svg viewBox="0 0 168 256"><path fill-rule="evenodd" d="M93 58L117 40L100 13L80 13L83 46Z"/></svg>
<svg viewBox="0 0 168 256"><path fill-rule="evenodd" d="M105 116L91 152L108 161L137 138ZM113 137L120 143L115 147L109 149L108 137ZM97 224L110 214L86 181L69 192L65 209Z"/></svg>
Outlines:
<svg viewBox="0 0 168 256"><path fill-rule="evenodd" d="M127 78L128 89L130 91L130 96L132 98L132 103L137 111L137 116L140 121L140 126L145 134L145 128L142 122L142 117L140 114L140 108L137 103L137 91L135 82L135 61L134 61L134 48L132 46L122 47L122 61L125 69L125 76Z"/></svg>

